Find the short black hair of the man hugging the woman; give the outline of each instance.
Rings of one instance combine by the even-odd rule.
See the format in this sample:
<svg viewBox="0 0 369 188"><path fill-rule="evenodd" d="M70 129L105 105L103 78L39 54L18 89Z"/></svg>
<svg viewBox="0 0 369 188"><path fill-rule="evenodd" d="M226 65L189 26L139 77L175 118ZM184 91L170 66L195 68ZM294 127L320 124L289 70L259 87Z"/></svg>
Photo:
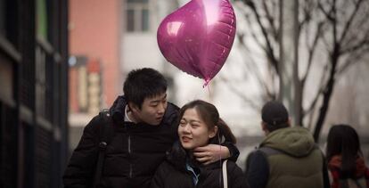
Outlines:
<svg viewBox="0 0 369 188"><path fill-rule="evenodd" d="M145 98L167 92L167 86L167 79L156 69L134 69L127 75L123 92L127 102L133 102L141 109Z"/></svg>

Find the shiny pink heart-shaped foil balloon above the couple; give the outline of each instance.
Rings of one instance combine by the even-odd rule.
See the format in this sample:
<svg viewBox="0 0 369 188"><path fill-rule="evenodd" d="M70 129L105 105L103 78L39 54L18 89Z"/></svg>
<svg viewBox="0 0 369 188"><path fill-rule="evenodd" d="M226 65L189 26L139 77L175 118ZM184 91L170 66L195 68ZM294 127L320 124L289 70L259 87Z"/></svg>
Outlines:
<svg viewBox="0 0 369 188"><path fill-rule="evenodd" d="M228 0L192 0L161 21L160 52L176 68L205 79L207 85L231 51L235 25Z"/></svg>

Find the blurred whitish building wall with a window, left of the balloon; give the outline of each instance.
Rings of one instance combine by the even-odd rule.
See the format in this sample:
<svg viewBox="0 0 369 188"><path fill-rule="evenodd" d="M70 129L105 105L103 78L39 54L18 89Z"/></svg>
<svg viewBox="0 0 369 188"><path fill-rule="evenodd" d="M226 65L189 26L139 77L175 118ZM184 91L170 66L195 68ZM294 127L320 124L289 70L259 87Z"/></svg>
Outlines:
<svg viewBox="0 0 369 188"><path fill-rule="evenodd" d="M176 102L175 75L157 43L160 21L179 5L177 0L122 0L121 61L122 76L132 69L158 69L168 79L168 101Z"/></svg>

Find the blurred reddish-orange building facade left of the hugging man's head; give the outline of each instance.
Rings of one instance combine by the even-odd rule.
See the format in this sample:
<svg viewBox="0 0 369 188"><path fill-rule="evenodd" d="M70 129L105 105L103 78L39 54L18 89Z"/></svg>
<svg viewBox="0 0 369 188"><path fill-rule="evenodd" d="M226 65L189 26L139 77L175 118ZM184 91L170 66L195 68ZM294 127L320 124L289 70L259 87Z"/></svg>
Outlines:
<svg viewBox="0 0 369 188"><path fill-rule="evenodd" d="M70 0L70 151L86 124L122 93L122 0Z"/></svg>

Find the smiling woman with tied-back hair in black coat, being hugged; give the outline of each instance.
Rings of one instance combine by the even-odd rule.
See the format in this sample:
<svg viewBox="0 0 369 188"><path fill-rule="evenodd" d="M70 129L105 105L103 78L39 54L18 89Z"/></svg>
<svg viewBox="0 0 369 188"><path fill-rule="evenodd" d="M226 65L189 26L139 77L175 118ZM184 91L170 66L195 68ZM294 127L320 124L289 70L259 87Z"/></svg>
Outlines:
<svg viewBox="0 0 369 188"><path fill-rule="evenodd" d="M185 104L179 119L179 143L173 145L157 169L151 187L223 187L223 161L204 166L193 157L193 150L209 143L235 143L230 128L219 118L214 105L200 100ZM226 170L229 188L247 187L242 169L233 161L226 162Z"/></svg>

